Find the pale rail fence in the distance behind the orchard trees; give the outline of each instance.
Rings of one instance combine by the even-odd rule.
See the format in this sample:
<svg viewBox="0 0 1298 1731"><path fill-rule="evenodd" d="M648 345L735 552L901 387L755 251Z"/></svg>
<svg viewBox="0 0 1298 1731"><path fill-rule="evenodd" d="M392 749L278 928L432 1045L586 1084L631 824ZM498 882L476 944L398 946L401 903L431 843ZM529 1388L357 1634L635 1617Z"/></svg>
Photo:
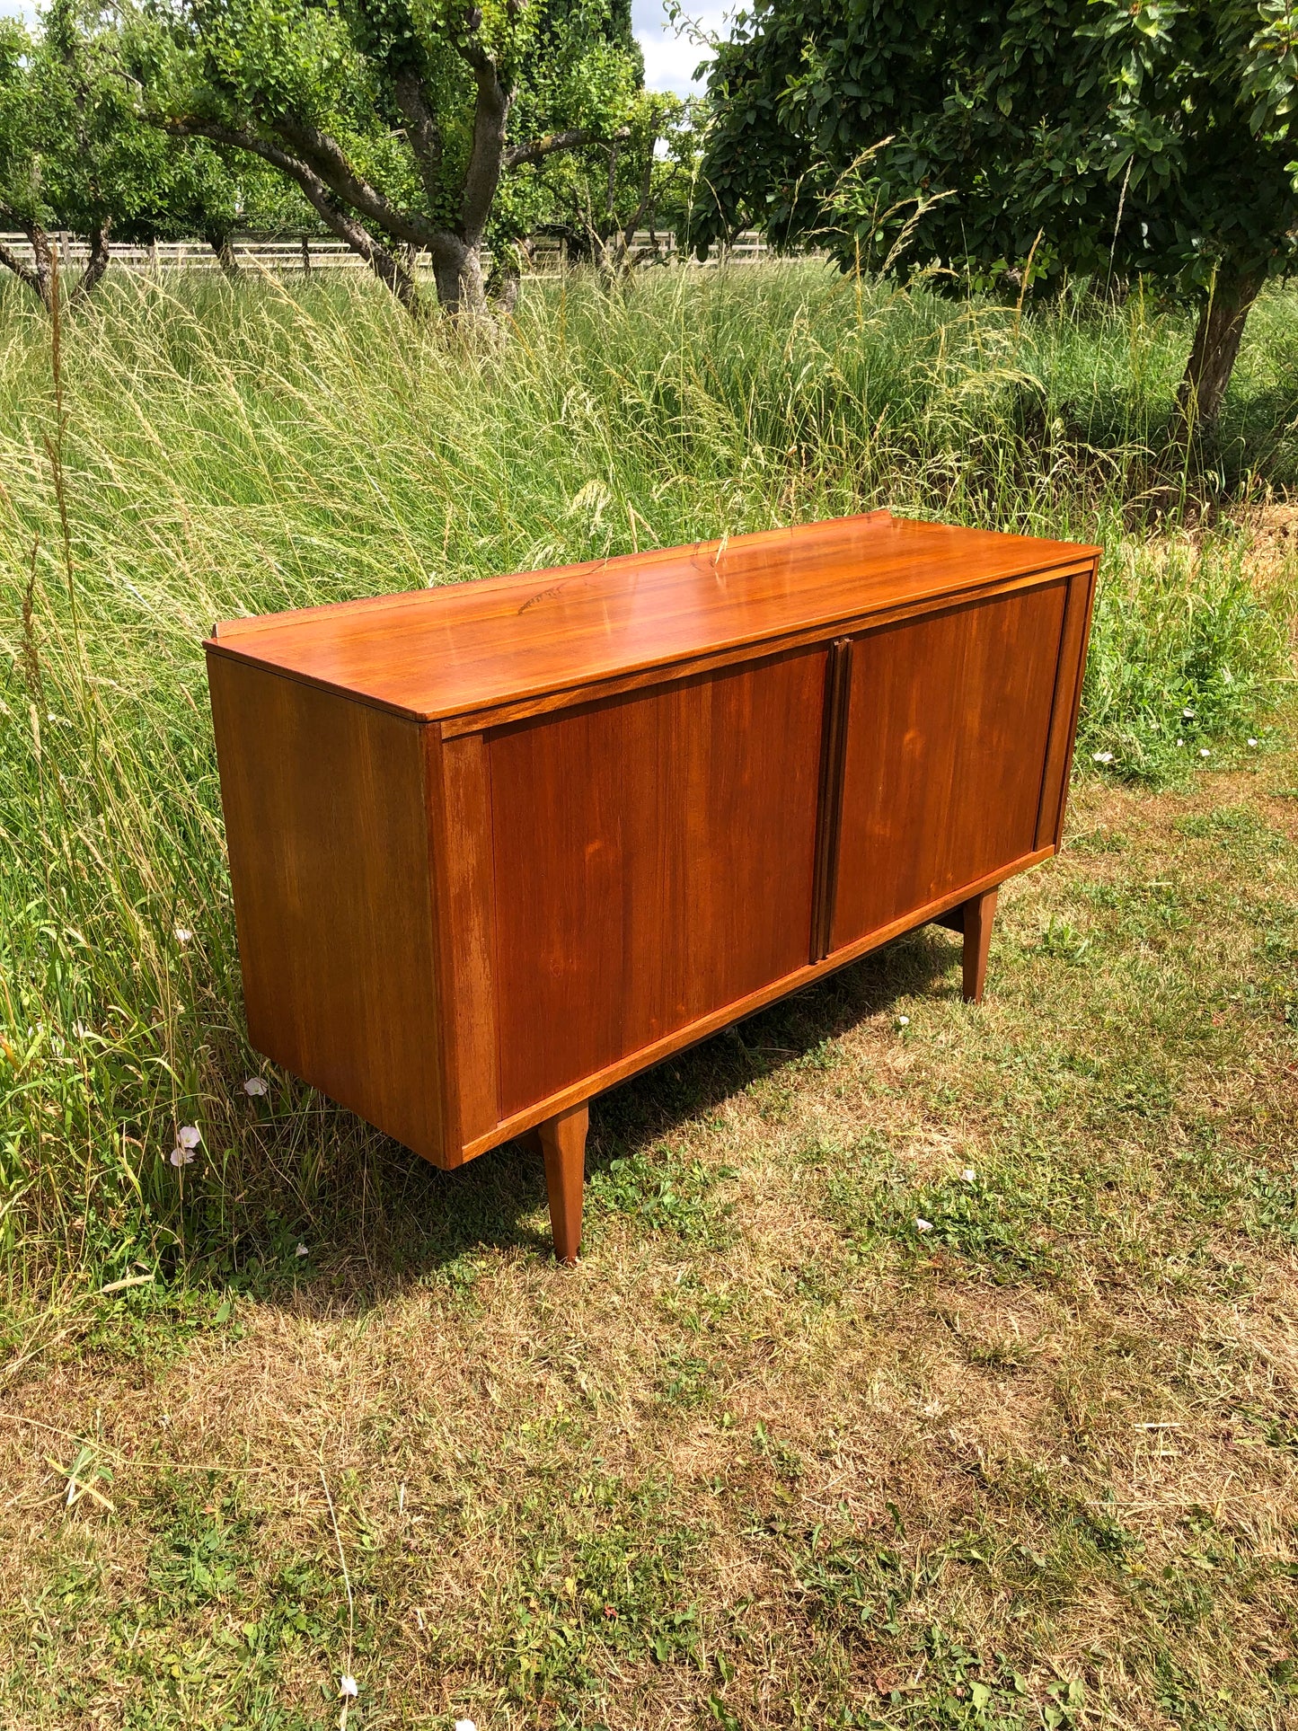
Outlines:
<svg viewBox="0 0 1298 1731"><path fill-rule="evenodd" d="M31 263L31 246L26 235L0 234L0 241L24 263ZM85 265L88 253L85 241L66 232L54 235L54 241L59 248L59 263L66 270L80 270ZM640 261L661 260L668 263L677 258L677 237L673 234L649 234L646 230L635 235L632 251ZM756 263L767 251L767 242L760 234L741 234L734 244L713 248L708 263ZM242 268L253 272L367 268L365 261L344 246L343 241L327 241L322 235L299 235L282 241L234 241L232 253ZM568 248L562 241L542 235L528 253L530 256L521 256L519 261L530 275L556 275L568 268ZM204 241L157 241L152 246L112 242L109 256L123 270L220 270L216 254ZM427 253L421 253L415 260L415 270L421 275L431 275L431 268Z"/></svg>

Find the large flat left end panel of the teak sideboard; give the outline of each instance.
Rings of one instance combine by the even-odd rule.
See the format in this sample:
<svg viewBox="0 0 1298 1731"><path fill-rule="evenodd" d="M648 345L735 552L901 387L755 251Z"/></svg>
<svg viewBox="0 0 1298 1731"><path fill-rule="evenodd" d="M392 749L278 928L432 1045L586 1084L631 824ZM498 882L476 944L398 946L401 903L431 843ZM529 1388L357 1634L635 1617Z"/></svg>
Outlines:
<svg viewBox="0 0 1298 1731"><path fill-rule="evenodd" d="M208 658L253 1046L443 1162L424 729Z"/></svg>

